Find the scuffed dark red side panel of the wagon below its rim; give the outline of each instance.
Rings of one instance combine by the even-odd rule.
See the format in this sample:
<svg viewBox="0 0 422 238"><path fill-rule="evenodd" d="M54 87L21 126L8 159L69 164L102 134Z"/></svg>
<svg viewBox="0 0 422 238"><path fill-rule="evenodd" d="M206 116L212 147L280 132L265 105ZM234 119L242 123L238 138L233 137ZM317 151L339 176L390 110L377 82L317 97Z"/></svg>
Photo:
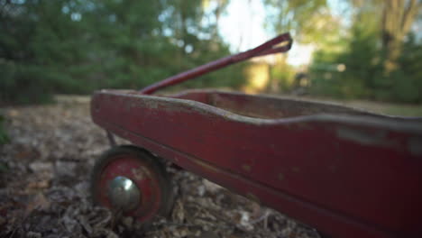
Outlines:
<svg viewBox="0 0 422 238"><path fill-rule="evenodd" d="M313 221L317 224L319 221L324 221L326 217L331 219L330 221L335 221L333 219L340 221L333 222L333 225L329 224L327 227L341 224L344 222L344 217L350 218L345 220L347 224L360 223L361 220L353 220L356 217L362 218L363 226L368 222L379 224L377 220L372 221L373 217L368 214L367 207L378 207L380 208L377 208L378 211L388 211L389 213L392 211L395 212L394 217L406 218L402 212L414 210L412 207L414 204L409 204L404 209L403 203L391 203L396 197L390 197L390 200L377 199L377 197L385 196L385 190L381 189L385 185L385 181L374 178L374 174L398 178L399 181L402 180L399 176L416 178L405 179L406 186L401 186L399 182L391 183L394 189L391 188L388 192L393 195L403 194L402 197L405 198L413 196L418 200L422 197L416 189L420 187L420 179L417 179L420 169L415 166L415 161L418 160L406 160L411 157L410 152L417 156L416 159L419 159L422 153L419 149L422 124L415 120L386 116L334 114L333 111L323 110L320 112L333 114L312 114L301 117L295 115L294 118L267 120L234 114L212 105L186 99L136 94L124 95L115 91L108 91L105 94L110 94L105 96L107 100L101 96L95 99L103 106L99 114L93 115L96 124L100 124L106 130L119 136L123 134L125 139L146 150L154 151L163 158L170 160L177 154L177 159L174 156L173 161L180 166L183 165L183 168L214 180L226 188L231 188L253 201L261 200L262 204L274 207L279 211L291 209L292 215L298 215L298 218L303 217L304 219L310 217L309 209L312 208L319 216L314 217L314 220L309 219L309 224ZM122 116L125 100L133 102L137 108L131 114ZM147 101L155 101L155 103L151 105L147 104ZM278 101L277 103L287 104L289 102ZM284 109L280 107L280 110L290 110L293 107L295 106L290 105ZM303 111L304 109L298 110ZM179 113L169 113L169 111ZM93 110L93 112L95 111ZM131 116L135 118L126 119ZM177 119L175 123L178 123L179 120L186 120L186 124L189 126L181 128L186 129L183 131L179 127L176 128L179 125L172 124L170 118ZM197 118L205 123L196 124ZM210 125L206 122L209 122ZM298 128L300 127L297 125L298 123L310 124L315 131L301 133L290 131L292 128L301 129ZM173 130L175 128L180 130ZM306 125L304 129L306 129ZM130 133L124 134L123 131ZM355 133L356 131L357 133ZM377 133L380 131L385 134ZM257 136L254 136L255 134ZM225 140L222 140L223 136ZM318 141L318 138L324 140ZM414 139L409 140L409 138ZM291 142L291 140L298 140L300 143ZM281 146L283 150L275 151L271 143L274 143L274 148ZM252 146L243 150L245 144ZM304 144L307 150L298 150ZM359 146L360 144L369 144L368 147L374 149L373 153L366 153L368 148L362 148ZM380 146L376 146L378 144L392 145L393 147L380 148ZM215 149L209 150L210 145ZM399 152L390 153L391 150ZM265 157L266 162L253 163L250 158L256 158L256 156L251 151L260 153ZM355 151L360 156L344 156L340 160L337 157L343 155L343 151ZM376 157L377 153L382 156ZM309 160L315 159L316 156L324 157L320 163L312 161L321 166L310 166ZM242 159L233 162L234 158ZM372 159L375 161L368 163L367 160ZM391 165L397 164L398 161L400 168L391 169ZM250 169L253 168L252 171L243 170L243 164L249 165ZM353 166L347 166L348 164L353 164ZM279 169L270 173L272 168ZM348 172L343 173L343 169L348 169ZM137 176L145 176L142 170L136 171L136 173ZM151 174L154 176L152 172ZM342 187L339 188L339 182L354 181L356 174L364 177L360 181L368 182L342 183ZM318 179L303 179L307 178L304 177L305 175L316 175ZM131 176L133 177L133 175ZM287 183L288 181L289 183ZM314 188L318 188L319 192L314 193ZM356 188L367 191L365 197L368 197L368 203L362 204L362 197L355 194ZM336 189L340 189L341 192L333 193L333 191L337 191ZM358 202L351 205L349 198L353 196L356 196ZM387 198L389 197L387 196ZM304 203L304 200L307 203ZM391 207L398 209L394 210ZM342 212L337 214L335 211ZM402 224L402 220L392 220L391 224L395 221ZM411 218L408 223L413 224ZM350 231L351 229L347 230L349 233Z"/></svg>

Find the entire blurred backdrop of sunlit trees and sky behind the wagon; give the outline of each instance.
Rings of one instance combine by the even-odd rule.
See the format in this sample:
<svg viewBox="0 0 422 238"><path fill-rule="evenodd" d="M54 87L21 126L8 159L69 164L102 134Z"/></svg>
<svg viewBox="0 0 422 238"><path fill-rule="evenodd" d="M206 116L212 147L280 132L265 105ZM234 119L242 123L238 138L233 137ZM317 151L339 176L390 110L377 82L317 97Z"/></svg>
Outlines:
<svg viewBox="0 0 422 238"><path fill-rule="evenodd" d="M419 0L0 0L0 102L142 88L282 33L287 54L178 87L422 102ZM19 93L18 93L19 92Z"/></svg>

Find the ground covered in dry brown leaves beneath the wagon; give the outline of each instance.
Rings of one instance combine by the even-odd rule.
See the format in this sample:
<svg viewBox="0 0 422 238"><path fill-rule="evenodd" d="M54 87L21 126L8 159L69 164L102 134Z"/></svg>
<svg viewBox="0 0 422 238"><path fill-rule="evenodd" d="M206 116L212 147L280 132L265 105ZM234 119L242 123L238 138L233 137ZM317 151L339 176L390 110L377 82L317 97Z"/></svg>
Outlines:
<svg viewBox="0 0 422 238"><path fill-rule="evenodd" d="M0 237L319 237L278 212L171 168L177 197L170 217L147 227L132 217L116 219L90 202L90 169L108 143L90 120L87 98L1 113L10 142L0 147Z"/></svg>

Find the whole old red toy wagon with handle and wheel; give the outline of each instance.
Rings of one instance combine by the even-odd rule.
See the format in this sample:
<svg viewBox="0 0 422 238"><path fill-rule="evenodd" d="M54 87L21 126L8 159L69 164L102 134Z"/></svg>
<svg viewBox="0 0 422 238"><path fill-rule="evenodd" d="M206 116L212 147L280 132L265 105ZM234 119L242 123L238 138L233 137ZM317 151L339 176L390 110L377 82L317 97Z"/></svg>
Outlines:
<svg viewBox="0 0 422 238"><path fill-rule="evenodd" d="M96 163L96 203L142 222L169 212L161 157L330 237L422 237L422 120L215 90L150 95L290 44L283 34L141 92L96 92L93 121L133 142Z"/></svg>

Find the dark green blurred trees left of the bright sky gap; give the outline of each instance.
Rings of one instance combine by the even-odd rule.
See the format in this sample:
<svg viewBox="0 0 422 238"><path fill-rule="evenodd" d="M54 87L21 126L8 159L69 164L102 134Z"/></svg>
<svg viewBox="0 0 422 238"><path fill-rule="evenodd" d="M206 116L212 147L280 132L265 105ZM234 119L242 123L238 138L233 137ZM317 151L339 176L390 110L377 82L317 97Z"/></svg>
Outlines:
<svg viewBox="0 0 422 238"><path fill-rule="evenodd" d="M0 0L0 104L139 89L228 55L205 17L197 0ZM243 67L183 87L239 87Z"/></svg>

